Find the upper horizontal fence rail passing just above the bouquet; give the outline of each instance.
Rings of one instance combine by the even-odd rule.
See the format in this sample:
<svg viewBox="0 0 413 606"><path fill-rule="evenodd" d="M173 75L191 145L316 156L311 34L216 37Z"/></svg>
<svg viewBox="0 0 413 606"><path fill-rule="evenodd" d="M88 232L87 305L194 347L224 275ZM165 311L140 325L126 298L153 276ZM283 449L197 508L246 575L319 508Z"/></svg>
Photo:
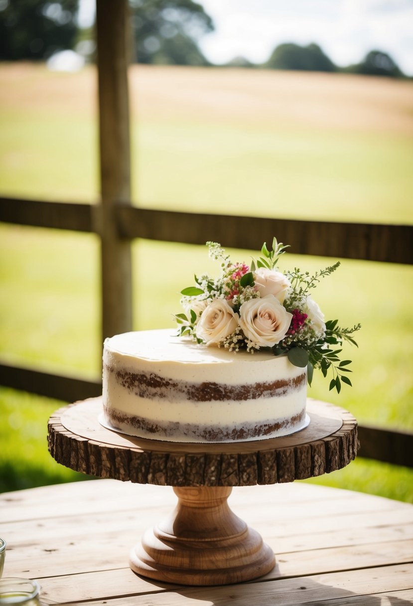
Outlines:
<svg viewBox="0 0 413 606"><path fill-rule="evenodd" d="M0 221L99 234L100 205L0 198ZM299 221L150 210L122 205L114 220L120 238L255 250L257 241L288 242L297 255L413 264L413 226Z"/></svg>

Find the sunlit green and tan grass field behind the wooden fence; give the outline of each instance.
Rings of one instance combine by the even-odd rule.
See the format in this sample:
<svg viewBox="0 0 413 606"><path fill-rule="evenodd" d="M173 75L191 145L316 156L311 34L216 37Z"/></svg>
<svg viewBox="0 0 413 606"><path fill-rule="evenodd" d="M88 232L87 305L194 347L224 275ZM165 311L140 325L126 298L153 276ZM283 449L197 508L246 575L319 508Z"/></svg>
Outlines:
<svg viewBox="0 0 413 606"><path fill-rule="evenodd" d="M99 199L97 81L41 65L0 65L0 195ZM137 67L130 72L134 204L361 222L412 222L413 84L349 75ZM283 239L282 235L276 235ZM222 242L225 246L225 242ZM257 235L257 250L262 240ZM251 251L231 251L248 262ZM0 225L0 355L96 376L102 343L93 235ZM136 241L134 327L172 327L179 291L217 271L206 248ZM283 267L332 259L291 251ZM309 395L361 421L413 429L412 268L343 260L314 296L327 318L362 322L354 387L317 377ZM78 479L47 453L61 405L0 390L0 489ZM413 502L413 473L356 461L317 480Z"/></svg>

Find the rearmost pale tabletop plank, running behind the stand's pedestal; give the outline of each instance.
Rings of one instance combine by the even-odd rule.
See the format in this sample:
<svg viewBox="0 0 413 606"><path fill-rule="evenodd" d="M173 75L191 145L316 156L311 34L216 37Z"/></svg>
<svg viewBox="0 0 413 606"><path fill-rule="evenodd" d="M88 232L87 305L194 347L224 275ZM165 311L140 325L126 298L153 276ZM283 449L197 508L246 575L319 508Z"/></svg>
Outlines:
<svg viewBox="0 0 413 606"><path fill-rule="evenodd" d="M319 506L323 507L324 515L331 512L340 516L349 512L354 515L363 511L394 510L394 502L389 499L358 493L357 501L354 501L353 494L349 490L294 482L234 487L228 504L235 513L250 508L261 515L262 507L269 507L273 514L295 520L318 516ZM174 507L176 502L170 487L110 479L91 480L0 494L0 520L31 520L34 511L36 519L49 519L85 513L136 511L137 508L153 509L162 504ZM403 507L408 510L411 505L397 502L397 511Z"/></svg>

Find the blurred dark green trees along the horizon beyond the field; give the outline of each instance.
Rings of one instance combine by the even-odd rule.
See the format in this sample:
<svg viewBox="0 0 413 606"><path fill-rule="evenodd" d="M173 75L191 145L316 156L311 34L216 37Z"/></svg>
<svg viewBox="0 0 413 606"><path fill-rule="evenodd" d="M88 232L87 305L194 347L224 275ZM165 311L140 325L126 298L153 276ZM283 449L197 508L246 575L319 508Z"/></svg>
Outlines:
<svg viewBox="0 0 413 606"><path fill-rule="evenodd" d="M214 23L193 0L129 0L133 30L131 61L158 65L213 65L199 39L213 32ZM79 0L0 0L0 61L45 61L59 50L78 50L93 60L93 28L78 25ZM85 44L89 42L89 44ZM83 50L82 50L83 49ZM228 66L348 72L375 76L405 76L381 50L371 50L357 64L338 67L317 44L293 42L274 48L268 61L253 64L242 57Z"/></svg>

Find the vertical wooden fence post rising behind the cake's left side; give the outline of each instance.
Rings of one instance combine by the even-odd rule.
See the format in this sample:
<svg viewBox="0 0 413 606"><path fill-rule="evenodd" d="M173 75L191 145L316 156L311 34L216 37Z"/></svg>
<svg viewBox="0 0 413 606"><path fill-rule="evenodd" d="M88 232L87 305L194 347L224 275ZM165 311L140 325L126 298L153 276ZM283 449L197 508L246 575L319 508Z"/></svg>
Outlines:
<svg viewBox="0 0 413 606"><path fill-rule="evenodd" d="M127 0L96 0L103 338L132 328L131 245L116 221L116 207L130 205L127 28Z"/></svg>

